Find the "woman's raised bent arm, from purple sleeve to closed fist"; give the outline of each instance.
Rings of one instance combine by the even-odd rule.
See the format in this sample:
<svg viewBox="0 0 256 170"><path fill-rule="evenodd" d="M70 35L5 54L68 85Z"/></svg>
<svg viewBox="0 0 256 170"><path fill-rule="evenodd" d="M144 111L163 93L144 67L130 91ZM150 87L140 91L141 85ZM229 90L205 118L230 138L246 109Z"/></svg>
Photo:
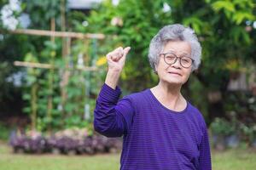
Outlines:
<svg viewBox="0 0 256 170"><path fill-rule="evenodd" d="M119 137L129 131L134 113L131 99L119 100L121 90L117 87L119 75L125 65L130 48L116 48L107 54L108 73L96 100L94 128L107 137Z"/></svg>

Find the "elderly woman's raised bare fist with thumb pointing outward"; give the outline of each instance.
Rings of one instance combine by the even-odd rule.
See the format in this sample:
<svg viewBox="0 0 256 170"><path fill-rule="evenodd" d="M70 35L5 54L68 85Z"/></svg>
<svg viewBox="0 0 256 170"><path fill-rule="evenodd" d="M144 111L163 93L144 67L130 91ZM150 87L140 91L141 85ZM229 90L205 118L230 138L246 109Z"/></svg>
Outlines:
<svg viewBox="0 0 256 170"><path fill-rule="evenodd" d="M108 71L122 71L125 65L126 55L129 53L130 49L130 47L119 47L108 53L106 56L108 60Z"/></svg>

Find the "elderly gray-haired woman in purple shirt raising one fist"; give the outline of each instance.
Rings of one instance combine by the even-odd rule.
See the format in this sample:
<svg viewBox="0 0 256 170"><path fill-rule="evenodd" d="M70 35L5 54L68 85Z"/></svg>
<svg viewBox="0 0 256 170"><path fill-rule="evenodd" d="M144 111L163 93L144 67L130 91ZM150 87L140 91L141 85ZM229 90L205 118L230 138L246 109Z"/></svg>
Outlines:
<svg viewBox="0 0 256 170"><path fill-rule="evenodd" d="M129 50L116 48L107 54L108 73L94 112L96 132L123 135L120 169L212 169L204 118L181 94L201 62L194 31L178 24L163 27L148 54L159 83L119 99L117 82Z"/></svg>

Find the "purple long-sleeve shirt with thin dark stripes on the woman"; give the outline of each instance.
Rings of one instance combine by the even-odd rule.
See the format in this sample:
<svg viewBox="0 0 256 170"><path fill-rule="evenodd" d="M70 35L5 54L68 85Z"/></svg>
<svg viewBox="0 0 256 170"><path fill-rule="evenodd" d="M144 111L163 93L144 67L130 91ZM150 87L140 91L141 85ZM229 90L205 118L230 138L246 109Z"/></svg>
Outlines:
<svg viewBox="0 0 256 170"><path fill-rule="evenodd" d="M103 84L94 111L98 133L123 136L120 169L212 169L207 126L193 105L171 111L149 88L123 99L120 94L119 87Z"/></svg>

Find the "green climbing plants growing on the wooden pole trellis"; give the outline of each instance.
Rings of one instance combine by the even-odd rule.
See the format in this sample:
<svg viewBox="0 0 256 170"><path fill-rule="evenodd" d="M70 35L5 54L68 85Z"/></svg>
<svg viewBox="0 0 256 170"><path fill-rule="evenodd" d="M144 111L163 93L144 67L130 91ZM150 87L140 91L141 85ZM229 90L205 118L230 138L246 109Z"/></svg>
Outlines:
<svg viewBox="0 0 256 170"><path fill-rule="evenodd" d="M91 47L90 40L88 41ZM94 76L96 73L79 71L77 67L83 66L79 64L79 56L82 58L84 55L93 56L90 54L93 50L88 49L89 47L84 50L83 41L73 41L71 54L63 59L61 56L56 56L61 51L59 43L60 40L45 41L45 48L40 53L26 54L26 61L50 63L55 66L55 69L26 69L23 99L27 100L27 105L23 111L32 117L32 129L39 131L55 131L69 127L88 127L91 130L90 122L95 98L90 99L90 93L93 94L93 89L98 89L99 81L98 77ZM86 65L90 66L91 60ZM64 83L66 73L67 84L63 86L61 84ZM37 85L37 93L32 94L35 85ZM61 92L66 94L65 101L62 99ZM89 117L88 115L84 117L86 113L90 114Z"/></svg>

